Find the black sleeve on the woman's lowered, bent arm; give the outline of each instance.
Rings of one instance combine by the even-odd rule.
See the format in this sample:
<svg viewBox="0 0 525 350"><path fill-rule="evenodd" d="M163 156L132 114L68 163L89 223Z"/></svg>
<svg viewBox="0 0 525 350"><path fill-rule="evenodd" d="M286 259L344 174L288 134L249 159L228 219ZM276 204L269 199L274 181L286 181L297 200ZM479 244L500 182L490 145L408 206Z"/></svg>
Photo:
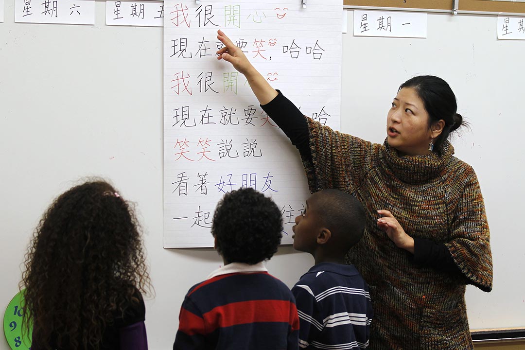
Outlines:
<svg viewBox="0 0 525 350"><path fill-rule="evenodd" d="M414 262L439 271L463 275L444 243L436 243L424 238L414 238Z"/></svg>

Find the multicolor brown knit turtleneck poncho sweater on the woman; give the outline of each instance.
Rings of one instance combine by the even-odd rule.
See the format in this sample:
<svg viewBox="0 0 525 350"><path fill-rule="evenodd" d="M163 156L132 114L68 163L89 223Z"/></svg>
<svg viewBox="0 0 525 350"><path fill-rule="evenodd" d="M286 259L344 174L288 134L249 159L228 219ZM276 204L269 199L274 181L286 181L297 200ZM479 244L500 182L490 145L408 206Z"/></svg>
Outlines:
<svg viewBox="0 0 525 350"><path fill-rule="evenodd" d="M400 157L307 118L312 192L339 188L367 212L365 233L348 253L370 286L375 318L370 349L470 349L465 285L492 289L485 205L474 170L444 142L428 155ZM390 210L409 236L444 243L460 274L419 265L377 226Z"/></svg>

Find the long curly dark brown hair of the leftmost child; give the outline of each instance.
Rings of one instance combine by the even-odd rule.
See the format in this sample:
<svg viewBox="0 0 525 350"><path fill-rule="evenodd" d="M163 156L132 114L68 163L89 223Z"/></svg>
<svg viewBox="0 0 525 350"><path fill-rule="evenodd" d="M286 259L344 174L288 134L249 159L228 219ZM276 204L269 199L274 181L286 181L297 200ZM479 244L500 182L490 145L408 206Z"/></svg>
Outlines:
<svg viewBox="0 0 525 350"><path fill-rule="evenodd" d="M99 348L104 328L139 303L137 290L151 291L141 231L134 205L101 179L55 199L34 232L20 282L34 343Z"/></svg>

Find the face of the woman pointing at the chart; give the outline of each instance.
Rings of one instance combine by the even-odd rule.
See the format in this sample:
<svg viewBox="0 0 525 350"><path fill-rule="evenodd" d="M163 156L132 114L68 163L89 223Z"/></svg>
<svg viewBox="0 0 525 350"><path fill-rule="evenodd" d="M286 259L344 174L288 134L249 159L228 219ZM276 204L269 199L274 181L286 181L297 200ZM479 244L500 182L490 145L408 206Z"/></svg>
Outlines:
<svg viewBox="0 0 525 350"><path fill-rule="evenodd" d="M432 139L428 122L428 113L416 90L401 89L386 118L388 144L401 155L428 154L428 143Z"/></svg>

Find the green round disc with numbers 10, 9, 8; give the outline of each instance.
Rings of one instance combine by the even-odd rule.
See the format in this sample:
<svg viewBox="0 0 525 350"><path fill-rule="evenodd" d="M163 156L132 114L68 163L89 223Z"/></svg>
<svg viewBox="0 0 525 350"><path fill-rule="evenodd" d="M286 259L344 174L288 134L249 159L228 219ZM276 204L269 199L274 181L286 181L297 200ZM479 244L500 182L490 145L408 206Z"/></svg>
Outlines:
<svg viewBox="0 0 525 350"><path fill-rule="evenodd" d="M30 350L32 332L22 331L24 290L15 295L4 314L4 334L13 350ZM30 327L32 328L32 327Z"/></svg>

